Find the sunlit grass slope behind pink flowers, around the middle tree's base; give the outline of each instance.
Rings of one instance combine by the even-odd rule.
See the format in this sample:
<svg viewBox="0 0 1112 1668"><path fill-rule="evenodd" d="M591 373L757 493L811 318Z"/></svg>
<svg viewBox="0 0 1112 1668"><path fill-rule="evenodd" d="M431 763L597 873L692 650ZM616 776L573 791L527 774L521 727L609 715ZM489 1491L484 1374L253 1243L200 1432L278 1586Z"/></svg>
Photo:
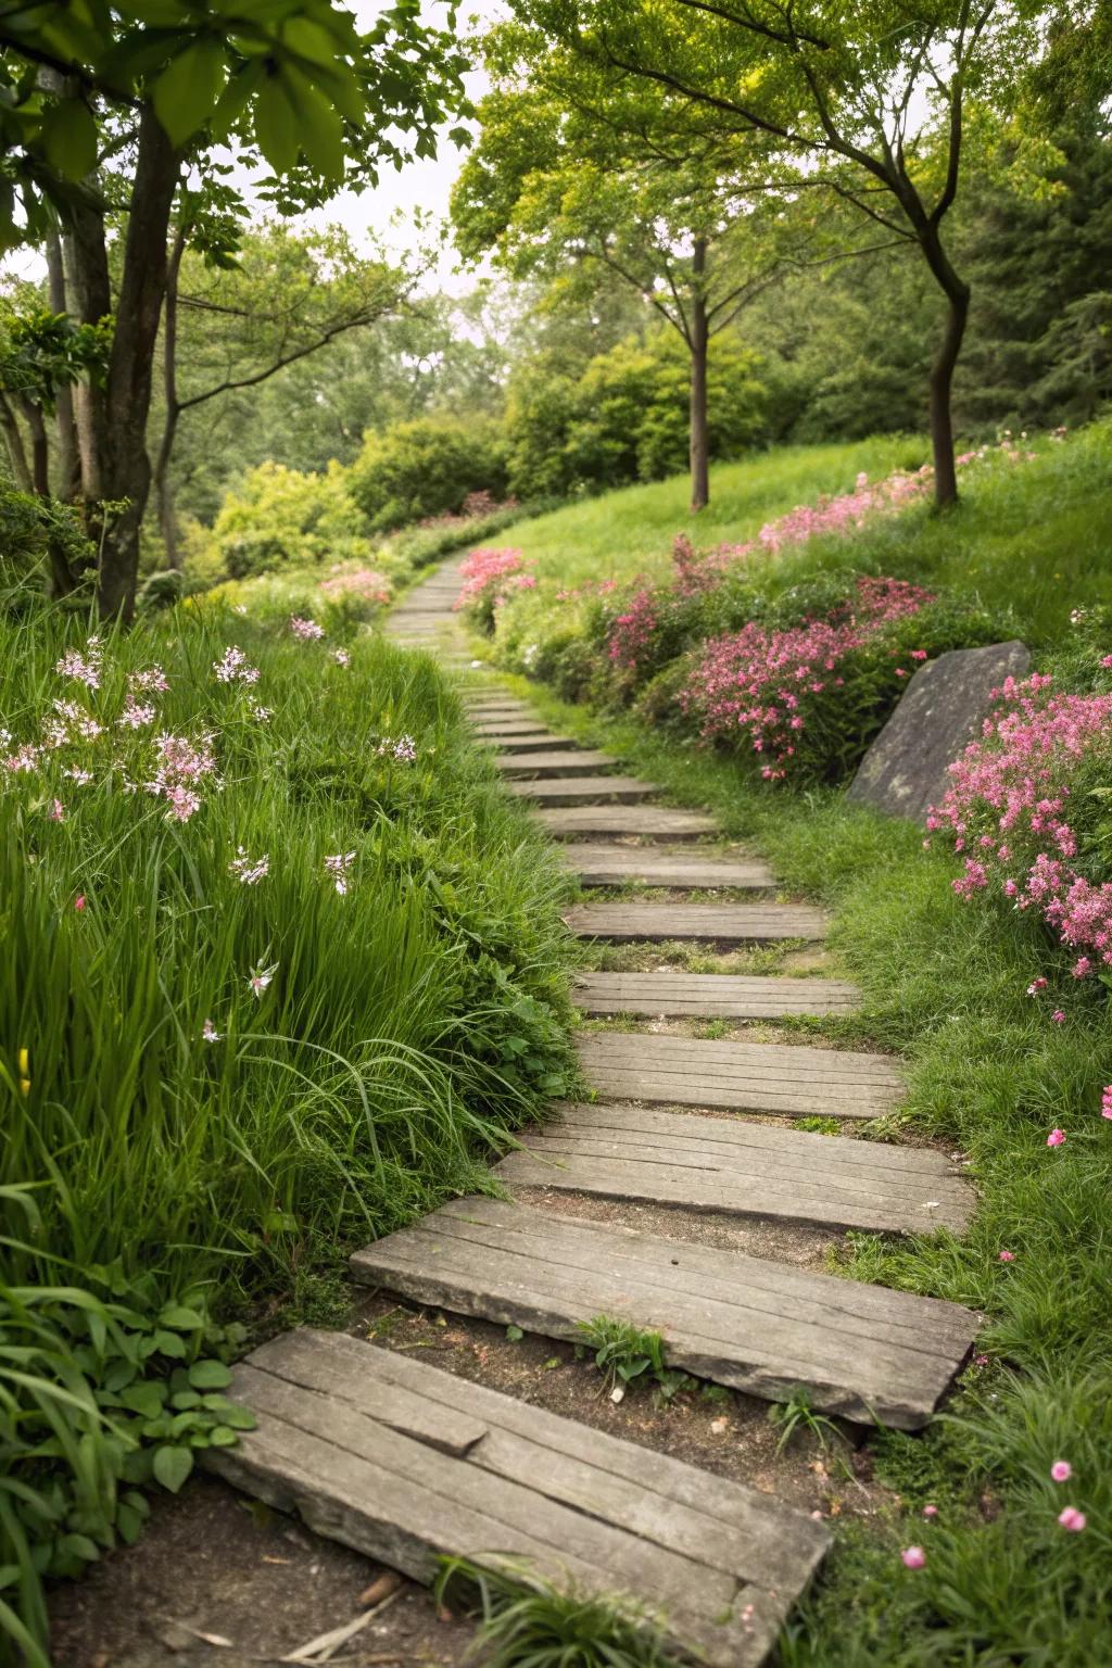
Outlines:
<svg viewBox="0 0 1112 1668"><path fill-rule="evenodd" d="M699 545L740 542L820 492L850 492L862 469L870 477L885 475L895 467L917 469L925 457L925 442L907 435L779 447L735 464L715 464L710 504L697 515L690 510L687 477L677 475L537 515L520 522L508 542L542 579L560 585L664 574L677 532Z"/></svg>

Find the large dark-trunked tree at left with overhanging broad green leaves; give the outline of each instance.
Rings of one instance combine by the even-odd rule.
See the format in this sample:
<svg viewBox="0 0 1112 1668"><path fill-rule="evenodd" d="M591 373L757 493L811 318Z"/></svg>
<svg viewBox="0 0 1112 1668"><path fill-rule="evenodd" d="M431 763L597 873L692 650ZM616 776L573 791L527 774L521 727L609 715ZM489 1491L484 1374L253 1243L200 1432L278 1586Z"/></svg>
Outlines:
<svg viewBox="0 0 1112 1668"><path fill-rule="evenodd" d="M467 110L453 22L448 5L443 30L423 23L418 0L397 0L365 32L330 0L68 0L0 13L0 240L42 239L57 219L70 312L88 325L113 317L103 377L75 397L102 614L133 609L152 367L187 170L190 190L205 192L228 172L218 147L265 162L263 195L293 212L363 188L383 160L432 155L437 128Z"/></svg>

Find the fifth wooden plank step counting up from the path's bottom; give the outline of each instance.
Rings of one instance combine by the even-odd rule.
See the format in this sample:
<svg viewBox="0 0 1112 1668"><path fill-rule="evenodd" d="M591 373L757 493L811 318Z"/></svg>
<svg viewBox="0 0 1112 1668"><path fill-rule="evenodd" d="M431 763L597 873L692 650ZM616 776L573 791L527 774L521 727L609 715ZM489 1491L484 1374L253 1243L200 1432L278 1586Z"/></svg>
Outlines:
<svg viewBox="0 0 1112 1668"><path fill-rule="evenodd" d="M840 979L765 979L730 972L580 972L574 1001L585 1014L667 1019L782 1019L852 1014L860 991Z"/></svg>

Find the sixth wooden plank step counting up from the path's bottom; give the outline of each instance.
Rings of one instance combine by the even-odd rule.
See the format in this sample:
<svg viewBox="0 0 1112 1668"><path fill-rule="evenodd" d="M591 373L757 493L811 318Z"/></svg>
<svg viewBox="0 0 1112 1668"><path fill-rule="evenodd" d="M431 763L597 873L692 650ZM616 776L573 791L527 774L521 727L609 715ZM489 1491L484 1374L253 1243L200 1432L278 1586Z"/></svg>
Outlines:
<svg viewBox="0 0 1112 1668"><path fill-rule="evenodd" d="M827 922L809 904L577 904L564 917L577 937L612 944L639 939L697 939L707 944L764 944L775 939L820 939Z"/></svg>

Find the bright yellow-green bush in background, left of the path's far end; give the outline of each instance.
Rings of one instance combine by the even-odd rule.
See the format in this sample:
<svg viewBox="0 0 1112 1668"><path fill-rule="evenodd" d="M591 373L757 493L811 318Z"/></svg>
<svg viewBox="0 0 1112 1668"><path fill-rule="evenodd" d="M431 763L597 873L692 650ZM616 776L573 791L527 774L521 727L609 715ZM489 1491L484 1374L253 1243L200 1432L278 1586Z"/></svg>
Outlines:
<svg viewBox="0 0 1112 1668"><path fill-rule="evenodd" d="M275 462L252 469L223 500L212 537L228 579L323 562L373 565L348 472L335 462L323 475Z"/></svg>

